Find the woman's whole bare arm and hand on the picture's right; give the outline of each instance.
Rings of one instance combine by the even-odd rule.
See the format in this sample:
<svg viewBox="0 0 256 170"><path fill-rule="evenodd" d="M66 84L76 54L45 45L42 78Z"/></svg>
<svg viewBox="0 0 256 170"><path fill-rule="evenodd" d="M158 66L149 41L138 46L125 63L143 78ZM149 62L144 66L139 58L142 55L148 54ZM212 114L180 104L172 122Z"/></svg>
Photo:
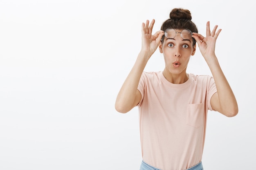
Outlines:
<svg viewBox="0 0 256 170"><path fill-rule="evenodd" d="M207 62L216 84L217 93L211 97L212 108L227 117L233 117L238 113L238 104L215 55L216 39L221 31L221 29L219 29L216 32L217 27L217 25L214 26L211 32L210 23L208 21L206 37L204 38L201 34L193 33L193 38L195 38L198 43L200 52Z"/></svg>

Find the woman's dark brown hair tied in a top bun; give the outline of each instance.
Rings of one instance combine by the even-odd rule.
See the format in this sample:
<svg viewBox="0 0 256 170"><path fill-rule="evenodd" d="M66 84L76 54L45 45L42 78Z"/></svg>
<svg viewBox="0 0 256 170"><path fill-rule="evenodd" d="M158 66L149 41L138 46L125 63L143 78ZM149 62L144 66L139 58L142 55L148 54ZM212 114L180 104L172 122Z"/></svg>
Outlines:
<svg viewBox="0 0 256 170"><path fill-rule="evenodd" d="M173 29L189 29L192 33L198 33L198 29L194 22L191 21L192 16L189 10L182 8L174 8L170 12L170 18L161 26L161 30L165 31L168 28ZM193 46L195 46L195 39L193 40ZM164 42L164 35L162 37L162 43Z"/></svg>

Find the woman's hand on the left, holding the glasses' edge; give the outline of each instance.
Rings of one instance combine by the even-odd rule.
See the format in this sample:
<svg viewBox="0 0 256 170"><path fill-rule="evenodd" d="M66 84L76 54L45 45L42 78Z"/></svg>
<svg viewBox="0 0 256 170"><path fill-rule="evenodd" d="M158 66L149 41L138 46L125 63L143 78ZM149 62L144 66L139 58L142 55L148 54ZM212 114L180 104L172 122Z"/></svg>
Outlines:
<svg viewBox="0 0 256 170"><path fill-rule="evenodd" d="M164 31L159 30L154 35L152 35L152 29L155 24L153 19L149 25L149 20L146 20L146 24L143 22L141 25L142 33L142 46L141 52L146 53L149 57L155 53L155 50L160 44Z"/></svg>

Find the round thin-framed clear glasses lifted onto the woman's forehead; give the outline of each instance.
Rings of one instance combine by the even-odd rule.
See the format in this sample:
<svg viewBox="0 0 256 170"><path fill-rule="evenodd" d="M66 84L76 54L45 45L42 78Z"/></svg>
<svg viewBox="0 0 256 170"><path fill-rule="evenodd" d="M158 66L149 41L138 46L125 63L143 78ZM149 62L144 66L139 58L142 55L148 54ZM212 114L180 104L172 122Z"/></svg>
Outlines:
<svg viewBox="0 0 256 170"><path fill-rule="evenodd" d="M173 39L176 37L177 33L180 33L180 36L183 40L190 40L192 38L192 32L189 29L184 29L181 32L176 32L175 29L168 28L164 31L164 36L167 39Z"/></svg>

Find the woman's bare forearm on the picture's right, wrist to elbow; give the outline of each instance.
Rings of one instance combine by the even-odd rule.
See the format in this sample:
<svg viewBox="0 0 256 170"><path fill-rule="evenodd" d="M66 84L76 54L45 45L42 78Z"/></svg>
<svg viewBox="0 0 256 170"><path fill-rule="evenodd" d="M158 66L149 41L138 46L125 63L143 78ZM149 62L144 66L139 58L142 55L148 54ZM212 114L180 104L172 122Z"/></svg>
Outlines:
<svg viewBox="0 0 256 170"><path fill-rule="evenodd" d="M217 111L226 115L234 116L238 113L238 105L236 102L236 97L224 75L218 59L216 56L210 57L211 59L207 61L207 64L213 75L217 92L219 108Z"/></svg>

